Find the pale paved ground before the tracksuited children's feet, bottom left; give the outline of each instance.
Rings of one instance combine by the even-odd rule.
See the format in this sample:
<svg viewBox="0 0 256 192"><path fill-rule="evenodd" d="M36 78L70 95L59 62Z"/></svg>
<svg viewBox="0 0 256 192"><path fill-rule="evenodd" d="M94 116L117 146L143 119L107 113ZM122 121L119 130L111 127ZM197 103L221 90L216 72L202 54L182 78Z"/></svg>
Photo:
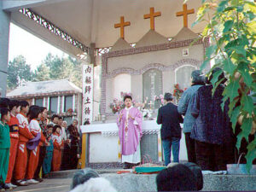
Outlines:
<svg viewBox="0 0 256 192"><path fill-rule="evenodd" d="M44 179L42 183L31 184L24 187L18 187L12 191L20 191L20 192L67 192L70 189L70 183L72 178L49 178Z"/></svg>

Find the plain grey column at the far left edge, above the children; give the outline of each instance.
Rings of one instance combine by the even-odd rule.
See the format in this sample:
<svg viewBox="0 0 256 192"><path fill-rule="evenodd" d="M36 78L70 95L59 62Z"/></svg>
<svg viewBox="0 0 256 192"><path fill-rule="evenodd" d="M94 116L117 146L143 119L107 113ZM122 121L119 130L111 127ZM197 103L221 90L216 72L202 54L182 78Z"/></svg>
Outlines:
<svg viewBox="0 0 256 192"><path fill-rule="evenodd" d="M6 96L10 24L10 13L2 8L3 2L0 1L0 97Z"/></svg>

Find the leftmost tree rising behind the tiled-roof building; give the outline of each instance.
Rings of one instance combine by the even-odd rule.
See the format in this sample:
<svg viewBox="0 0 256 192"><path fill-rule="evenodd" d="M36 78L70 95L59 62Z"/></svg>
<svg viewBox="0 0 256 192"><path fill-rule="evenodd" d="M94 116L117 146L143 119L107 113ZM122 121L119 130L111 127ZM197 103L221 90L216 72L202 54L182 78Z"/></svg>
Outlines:
<svg viewBox="0 0 256 192"><path fill-rule="evenodd" d="M22 55L18 55L13 61L9 61L8 65L8 89L13 90L20 83L21 79L25 81L32 80L31 67L26 64L26 59Z"/></svg>

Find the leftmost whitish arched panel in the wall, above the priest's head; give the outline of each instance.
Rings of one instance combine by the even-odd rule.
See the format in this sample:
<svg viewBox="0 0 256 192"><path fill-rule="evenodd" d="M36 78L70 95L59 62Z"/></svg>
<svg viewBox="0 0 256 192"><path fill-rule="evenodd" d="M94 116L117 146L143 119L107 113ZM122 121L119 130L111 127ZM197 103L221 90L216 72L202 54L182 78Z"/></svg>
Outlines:
<svg viewBox="0 0 256 192"><path fill-rule="evenodd" d="M121 92L131 93L130 74L119 74L113 79L113 98L120 99Z"/></svg>

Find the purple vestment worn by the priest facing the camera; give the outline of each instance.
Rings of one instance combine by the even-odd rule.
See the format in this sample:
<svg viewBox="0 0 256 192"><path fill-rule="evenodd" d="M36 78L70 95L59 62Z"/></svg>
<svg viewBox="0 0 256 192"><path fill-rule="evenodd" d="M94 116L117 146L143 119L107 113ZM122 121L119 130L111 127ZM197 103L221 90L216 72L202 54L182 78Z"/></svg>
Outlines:
<svg viewBox="0 0 256 192"><path fill-rule="evenodd" d="M142 123L143 116L142 113L137 108L130 108L129 112L131 117L126 122L126 114L128 110L122 109L119 115L122 113L123 116L119 121L117 119L117 125L119 127L119 140L121 144L121 154L130 155L137 151L137 145L139 144L141 137L143 137ZM125 125L128 125L128 131L125 134ZM137 125L135 125L137 124Z"/></svg>

